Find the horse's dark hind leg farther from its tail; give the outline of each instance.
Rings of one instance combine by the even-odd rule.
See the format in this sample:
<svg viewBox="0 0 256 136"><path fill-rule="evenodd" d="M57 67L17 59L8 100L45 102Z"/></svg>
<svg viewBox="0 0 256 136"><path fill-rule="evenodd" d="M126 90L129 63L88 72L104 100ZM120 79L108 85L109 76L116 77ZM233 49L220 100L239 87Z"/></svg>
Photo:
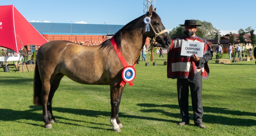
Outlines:
<svg viewBox="0 0 256 136"><path fill-rule="evenodd" d="M51 84L51 90L50 90L49 97L48 97L48 102L47 102L47 114L48 114L49 121L51 123L57 123L57 121L53 117L52 99L53 99L55 91L59 87L59 83L60 83L61 79L63 78L63 76L64 76L64 74L58 73L57 75L55 75L55 78L54 78L54 80Z"/></svg>

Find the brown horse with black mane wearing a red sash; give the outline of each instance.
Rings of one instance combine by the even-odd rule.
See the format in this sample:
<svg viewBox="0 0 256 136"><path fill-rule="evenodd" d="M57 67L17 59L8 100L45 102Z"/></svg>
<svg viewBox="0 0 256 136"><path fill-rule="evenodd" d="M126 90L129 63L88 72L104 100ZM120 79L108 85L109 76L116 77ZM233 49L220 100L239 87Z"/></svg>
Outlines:
<svg viewBox="0 0 256 136"><path fill-rule="evenodd" d="M151 19L150 31L146 30L144 18ZM160 34L161 32L164 33ZM158 33L160 32L159 36ZM164 48L171 45L171 39L163 26L156 8L150 6L147 14L134 19L120 29L112 38L123 54L127 65L136 63L146 38L155 38ZM118 59L111 40L99 46L83 46L70 41L49 41L39 48L34 72L33 104L42 105L44 128L51 129L56 123L52 113L52 99L61 79L66 75L71 80L86 85L110 85L112 130L120 132L123 127L119 120L119 105L124 86L122 70L124 66ZM84 62L86 65L81 64Z"/></svg>

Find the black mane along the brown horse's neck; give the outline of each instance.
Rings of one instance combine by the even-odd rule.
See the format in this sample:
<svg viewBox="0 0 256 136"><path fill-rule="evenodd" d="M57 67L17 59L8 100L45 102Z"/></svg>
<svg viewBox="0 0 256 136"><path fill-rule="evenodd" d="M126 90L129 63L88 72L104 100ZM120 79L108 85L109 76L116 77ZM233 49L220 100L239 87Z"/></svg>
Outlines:
<svg viewBox="0 0 256 136"><path fill-rule="evenodd" d="M147 16L149 15L149 12L147 12ZM134 25L134 22L138 22L138 20L143 17L143 16L146 16L145 15L142 15L132 21L130 21L129 23L127 23L122 29L120 29L119 31L117 31L115 34L114 34L114 38L115 38L115 41L116 41L116 44L118 46L119 49L122 48L121 46L121 37L122 37L122 30L125 30L127 28L129 28L130 26L133 26ZM152 12L152 20L151 22L153 22L155 19L159 19L161 20L161 18L155 13L155 12ZM111 44L111 41L110 39L108 40L105 40L102 44L101 44L101 47L99 48L99 51L102 51L104 50L105 48L107 48L108 52L113 48L112 44Z"/></svg>

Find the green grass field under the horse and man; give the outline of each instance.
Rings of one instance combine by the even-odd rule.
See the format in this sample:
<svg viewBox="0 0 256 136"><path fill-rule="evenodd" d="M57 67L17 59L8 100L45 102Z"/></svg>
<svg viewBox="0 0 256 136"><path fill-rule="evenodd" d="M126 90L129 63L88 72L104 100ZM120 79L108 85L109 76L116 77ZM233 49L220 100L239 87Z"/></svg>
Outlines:
<svg viewBox="0 0 256 136"><path fill-rule="evenodd" d="M177 125L181 115L176 79L167 79L167 55L158 56L157 66L150 61L150 66L142 61L135 66L134 86L126 86L119 108L124 125L120 133L111 131L109 123L109 86L82 85L64 77L53 98L58 123L44 129L42 107L32 104L33 71L0 68L0 135L256 135L255 60L215 64L214 55L209 61L210 76L203 80L202 91L207 128L200 129L193 120ZM190 96L189 113L192 119Z"/></svg>

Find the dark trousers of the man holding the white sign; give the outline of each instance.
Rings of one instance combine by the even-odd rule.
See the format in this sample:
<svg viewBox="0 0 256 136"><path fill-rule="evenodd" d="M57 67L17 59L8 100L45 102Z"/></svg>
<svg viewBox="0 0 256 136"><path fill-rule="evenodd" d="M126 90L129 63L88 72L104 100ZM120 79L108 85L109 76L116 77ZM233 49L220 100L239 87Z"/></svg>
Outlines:
<svg viewBox="0 0 256 136"><path fill-rule="evenodd" d="M195 124L202 123L203 106L202 106L202 75L197 72L194 81L189 79L177 78L178 102L181 109L182 121L189 121L188 113L188 87L190 88L192 108L194 112L193 120Z"/></svg>

